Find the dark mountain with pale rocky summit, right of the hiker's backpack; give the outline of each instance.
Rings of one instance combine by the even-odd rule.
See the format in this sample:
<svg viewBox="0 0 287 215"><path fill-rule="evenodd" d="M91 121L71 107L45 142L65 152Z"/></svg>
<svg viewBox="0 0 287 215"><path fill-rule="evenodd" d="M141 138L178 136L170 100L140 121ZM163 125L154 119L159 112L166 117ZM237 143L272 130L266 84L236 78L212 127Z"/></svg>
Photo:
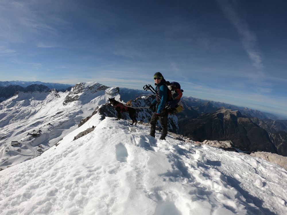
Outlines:
<svg viewBox="0 0 287 215"><path fill-rule="evenodd" d="M234 147L242 151L278 152L268 132L238 110L222 108L215 113L199 114L181 120L179 126L182 134L194 141L231 140Z"/></svg>

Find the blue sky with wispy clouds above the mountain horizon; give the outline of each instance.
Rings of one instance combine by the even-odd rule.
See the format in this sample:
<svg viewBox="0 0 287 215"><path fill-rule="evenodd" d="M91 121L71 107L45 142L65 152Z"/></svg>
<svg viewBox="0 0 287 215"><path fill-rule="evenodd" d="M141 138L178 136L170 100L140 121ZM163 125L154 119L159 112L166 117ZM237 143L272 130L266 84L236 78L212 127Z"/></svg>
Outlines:
<svg viewBox="0 0 287 215"><path fill-rule="evenodd" d="M0 81L142 89L287 116L286 1L0 1Z"/></svg>

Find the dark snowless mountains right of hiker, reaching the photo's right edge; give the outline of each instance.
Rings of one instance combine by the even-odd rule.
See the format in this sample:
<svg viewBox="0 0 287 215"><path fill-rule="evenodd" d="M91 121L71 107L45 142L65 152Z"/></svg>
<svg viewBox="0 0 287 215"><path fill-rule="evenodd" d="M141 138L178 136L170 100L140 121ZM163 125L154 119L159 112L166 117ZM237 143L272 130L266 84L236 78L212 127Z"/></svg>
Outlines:
<svg viewBox="0 0 287 215"><path fill-rule="evenodd" d="M231 140L243 151L287 156L287 120L261 120L238 110L222 108L179 120L182 134L192 140Z"/></svg>

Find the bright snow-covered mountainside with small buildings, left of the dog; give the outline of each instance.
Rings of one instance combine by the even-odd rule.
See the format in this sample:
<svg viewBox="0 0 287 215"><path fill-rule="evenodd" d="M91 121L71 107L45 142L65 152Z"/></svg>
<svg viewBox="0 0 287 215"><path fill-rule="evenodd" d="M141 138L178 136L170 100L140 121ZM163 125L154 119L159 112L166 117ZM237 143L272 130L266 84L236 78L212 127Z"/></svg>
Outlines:
<svg viewBox="0 0 287 215"><path fill-rule="evenodd" d="M80 86L80 89L76 89ZM117 88L97 82L78 83L70 92L19 92L0 104L0 170L37 157L77 128L94 109L120 100ZM72 98L67 101L67 98ZM67 101L64 103L64 101ZM41 130L40 136L28 135ZM11 146L12 141L21 144Z"/></svg>

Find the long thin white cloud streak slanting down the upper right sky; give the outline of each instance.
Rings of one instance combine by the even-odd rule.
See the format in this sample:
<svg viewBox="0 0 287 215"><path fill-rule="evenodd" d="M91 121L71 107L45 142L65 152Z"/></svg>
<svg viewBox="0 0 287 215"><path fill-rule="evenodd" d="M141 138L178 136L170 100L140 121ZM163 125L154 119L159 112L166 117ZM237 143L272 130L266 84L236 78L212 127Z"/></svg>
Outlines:
<svg viewBox="0 0 287 215"><path fill-rule="evenodd" d="M241 19L232 3L227 0L217 0L220 8L224 12L225 16L234 25L237 32L240 35L241 42L249 56L252 60L253 65L261 69L263 68L262 54L258 51L256 47L256 35L249 30L247 23Z"/></svg>

